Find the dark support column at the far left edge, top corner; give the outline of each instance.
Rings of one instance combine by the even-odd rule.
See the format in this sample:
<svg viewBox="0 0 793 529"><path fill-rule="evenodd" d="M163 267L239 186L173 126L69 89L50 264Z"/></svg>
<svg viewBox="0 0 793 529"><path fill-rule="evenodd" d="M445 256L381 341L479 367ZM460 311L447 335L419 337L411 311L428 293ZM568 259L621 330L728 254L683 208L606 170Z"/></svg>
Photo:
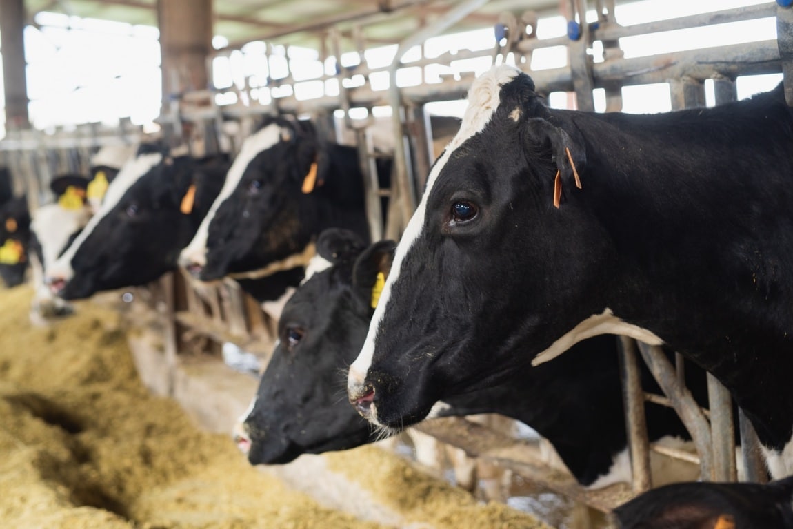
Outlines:
<svg viewBox="0 0 793 529"><path fill-rule="evenodd" d="M0 48L9 131L30 128L24 30L25 0L0 0Z"/></svg>

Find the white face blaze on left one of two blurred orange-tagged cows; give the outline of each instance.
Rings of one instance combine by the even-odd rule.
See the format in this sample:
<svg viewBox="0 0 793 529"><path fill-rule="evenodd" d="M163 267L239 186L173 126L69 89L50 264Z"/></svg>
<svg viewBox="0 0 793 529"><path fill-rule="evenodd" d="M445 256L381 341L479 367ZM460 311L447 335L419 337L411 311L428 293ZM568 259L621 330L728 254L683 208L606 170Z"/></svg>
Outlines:
<svg viewBox="0 0 793 529"><path fill-rule="evenodd" d="M62 277L63 279L71 279L73 271L71 269L71 259L80 249L82 242L96 229L96 226L105 218L105 216L121 202L129 188L132 187L137 181L140 180L146 173L151 171L159 162L162 162L163 155L159 153L140 154L136 158L132 158L129 162L125 163L124 167L117 176L110 182L110 185L105 192L105 198L102 200L102 205L96 215L86 224L86 227L80 232L75 240L69 245L69 248L58 260L52 265L52 268L45 270L47 275L50 274Z"/></svg>

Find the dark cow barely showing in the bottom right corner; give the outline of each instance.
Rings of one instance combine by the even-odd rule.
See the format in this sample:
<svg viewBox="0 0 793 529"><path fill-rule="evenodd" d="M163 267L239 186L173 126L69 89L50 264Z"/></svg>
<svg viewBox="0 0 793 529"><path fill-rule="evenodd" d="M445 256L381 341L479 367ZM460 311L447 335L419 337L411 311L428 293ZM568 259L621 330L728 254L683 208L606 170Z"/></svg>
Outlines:
<svg viewBox="0 0 793 529"><path fill-rule="evenodd" d="M617 529L793 529L793 478L676 483L614 510Z"/></svg>

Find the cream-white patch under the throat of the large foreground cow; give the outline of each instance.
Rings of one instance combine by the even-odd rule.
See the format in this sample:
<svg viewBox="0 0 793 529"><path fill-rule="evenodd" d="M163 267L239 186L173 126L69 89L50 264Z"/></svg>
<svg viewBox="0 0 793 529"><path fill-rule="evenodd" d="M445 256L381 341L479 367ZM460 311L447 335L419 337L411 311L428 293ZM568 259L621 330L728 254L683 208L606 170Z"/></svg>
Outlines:
<svg viewBox="0 0 793 529"><path fill-rule="evenodd" d="M589 318L580 322L568 333L554 341L545 351L541 352L531 360L531 365L538 366L549 360L554 360L561 353L567 351L573 345L587 338L599 336L600 334L622 334L623 336L643 341L648 345L662 345L664 341L656 334L647 329L623 322L622 319L614 315L614 312L607 308L603 314L593 314Z"/></svg>

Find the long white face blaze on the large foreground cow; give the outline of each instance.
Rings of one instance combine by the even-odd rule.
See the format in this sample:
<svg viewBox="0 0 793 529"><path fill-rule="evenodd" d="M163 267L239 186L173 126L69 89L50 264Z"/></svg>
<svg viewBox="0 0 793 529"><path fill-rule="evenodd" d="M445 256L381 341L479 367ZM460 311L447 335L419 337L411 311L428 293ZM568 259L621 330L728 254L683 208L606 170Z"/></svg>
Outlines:
<svg viewBox="0 0 793 529"><path fill-rule="evenodd" d="M432 167L429 177L427 178L427 188L421 197L421 203L413 213L408 226L402 234L397 250L394 254L393 264L391 265L391 272L389 272L388 279L385 280L385 287L380 295L380 302L377 303L377 308L374 310L374 316L369 327L369 333L366 335L366 342L363 344L361 353L358 358L352 363L351 377L358 373L366 374L372 363L372 356L374 355L374 337L377 334L377 329L380 328L380 323L385 314L385 307L389 303L391 296L391 286L397 281L400 276L400 268L405 255L411 248L416 239L421 234L424 225L424 216L427 211L427 197L430 196L432 188L435 185L435 180L438 178L439 173L442 171L443 166L449 161L451 154L457 150L465 140L471 138L477 132L482 131L485 125L488 124L492 118L493 112L500 103L501 86L510 82L515 76L520 73L515 67L503 64L498 67L493 67L484 74L481 74L471 85L468 93L468 107L465 109L465 114L462 117L460 130L451 140L446 150L443 151L441 158L435 162ZM352 380L350 380L352 383Z"/></svg>

